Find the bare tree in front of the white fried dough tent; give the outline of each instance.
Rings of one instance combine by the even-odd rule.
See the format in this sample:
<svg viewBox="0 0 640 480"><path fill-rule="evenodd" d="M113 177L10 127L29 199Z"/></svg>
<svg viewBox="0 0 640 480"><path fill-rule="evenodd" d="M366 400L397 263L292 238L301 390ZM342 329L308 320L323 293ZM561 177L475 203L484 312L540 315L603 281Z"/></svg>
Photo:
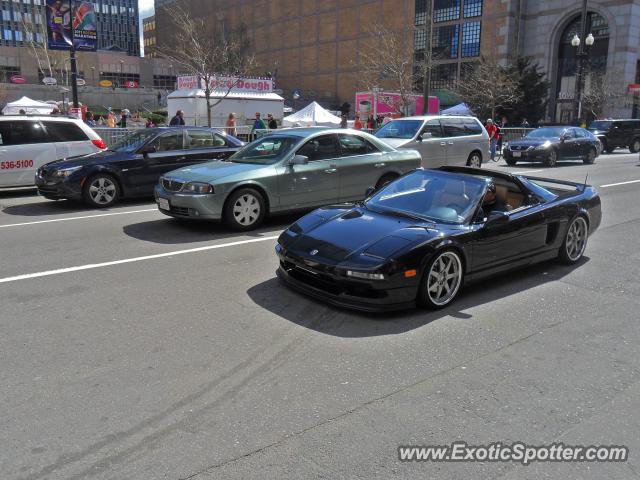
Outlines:
<svg viewBox="0 0 640 480"><path fill-rule="evenodd" d="M202 80L207 125L211 126L211 110L231 93L238 77L249 74L256 65L246 27L227 31L223 21L212 26L204 18L191 15L179 3L163 8L172 19L173 37L167 46L157 48L158 56ZM221 88L221 80L227 78L233 80ZM221 93L212 101L214 88Z"/></svg>

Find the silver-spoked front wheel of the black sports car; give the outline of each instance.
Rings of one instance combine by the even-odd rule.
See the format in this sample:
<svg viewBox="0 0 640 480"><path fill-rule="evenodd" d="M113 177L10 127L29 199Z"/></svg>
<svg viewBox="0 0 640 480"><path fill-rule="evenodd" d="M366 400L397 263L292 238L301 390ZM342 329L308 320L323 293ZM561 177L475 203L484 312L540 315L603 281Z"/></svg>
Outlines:
<svg viewBox="0 0 640 480"><path fill-rule="evenodd" d="M446 307L458 295L462 276L462 260L458 253L445 250L436 254L422 277L418 304L427 308Z"/></svg>

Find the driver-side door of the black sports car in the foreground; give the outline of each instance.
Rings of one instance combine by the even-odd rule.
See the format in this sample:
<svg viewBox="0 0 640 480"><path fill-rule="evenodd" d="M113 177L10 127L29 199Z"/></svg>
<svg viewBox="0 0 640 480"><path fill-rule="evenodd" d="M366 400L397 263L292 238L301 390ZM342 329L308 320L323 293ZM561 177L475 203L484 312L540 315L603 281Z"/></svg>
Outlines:
<svg viewBox="0 0 640 480"><path fill-rule="evenodd" d="M473 271L499 269L541 253L546 245L547 225L543 204L525 205L507 212L506 223L477 230L473 242Z"/></svg>

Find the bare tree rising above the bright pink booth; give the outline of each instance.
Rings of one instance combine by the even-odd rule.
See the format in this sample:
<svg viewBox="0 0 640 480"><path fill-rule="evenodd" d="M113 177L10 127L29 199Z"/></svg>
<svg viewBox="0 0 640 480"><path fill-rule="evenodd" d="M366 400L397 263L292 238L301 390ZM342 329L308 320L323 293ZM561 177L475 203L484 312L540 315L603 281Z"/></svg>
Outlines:
<svg viewBox="0 0 640 480"><path fill-rule="evenodd" d="M359 83L367 90L385 85L400 95L400 109L407 111L414 94L413 49L409 48L406 31L393 31L382 24L374 24L369 41L357 62Z"/></svg>

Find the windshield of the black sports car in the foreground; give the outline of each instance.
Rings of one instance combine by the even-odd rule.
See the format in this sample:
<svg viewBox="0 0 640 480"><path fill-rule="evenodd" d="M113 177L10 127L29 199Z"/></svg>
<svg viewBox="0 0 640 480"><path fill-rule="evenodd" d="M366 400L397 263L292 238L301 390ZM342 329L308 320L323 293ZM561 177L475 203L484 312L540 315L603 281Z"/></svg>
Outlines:
<svg viewBox="0 0 640 480"><path fill-rule="evenodd" d="M417 170L389 184L365 205L381 213L463 224L473 216L484 188L481 178Z"/></svg>

